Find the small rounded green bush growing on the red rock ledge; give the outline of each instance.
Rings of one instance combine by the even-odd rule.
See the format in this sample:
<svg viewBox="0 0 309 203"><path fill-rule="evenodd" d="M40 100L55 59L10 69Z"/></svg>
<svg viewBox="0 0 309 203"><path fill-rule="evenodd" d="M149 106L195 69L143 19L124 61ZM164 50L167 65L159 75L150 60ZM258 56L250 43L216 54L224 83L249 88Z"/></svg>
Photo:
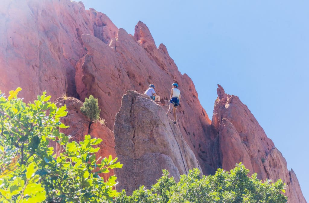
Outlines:
<svg viewBox="0 0 309 203"><path fill-rule="evenodd" d="M100 109L98 105L98 99L95 99L92 95L89 98L85 98L83 107L80 108L81 112L90 118L91 122L100 118Z"/></svg>

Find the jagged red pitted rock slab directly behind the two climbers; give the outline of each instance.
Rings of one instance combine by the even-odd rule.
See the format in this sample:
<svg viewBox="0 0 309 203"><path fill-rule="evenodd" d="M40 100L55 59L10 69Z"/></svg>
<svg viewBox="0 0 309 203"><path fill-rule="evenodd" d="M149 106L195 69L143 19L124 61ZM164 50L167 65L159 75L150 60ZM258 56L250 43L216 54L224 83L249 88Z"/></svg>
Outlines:
<svg viewBox="0 0 309 203"><path fill-rule="evenodd" d="M138 22L137 27L149 33L144 23ZM138 34L134 36L139 38ZM76 66L75 81L80 99L83 101L89 95L98 98L101 117L107 120L108 128L113 129L125 91L143 93L152 83L155 91L166 100L170 96L171 83L178 82L181 91L181 104L177 110L180 131L199 162L203 163L203 171L214 172L219 167L213 164L214 159L218 160L218 154L210 150L215 141L205 136L210 130L210 120L199 103L192 80L186 74L180 74L163 44L157 49L150 34L142 36L143 41L147 41L144 44L119 29L117 38L108 45L94 36L82 35L88 52ZM153 44L150 46L150 43ZM146 49L143 48L145 44L148 44ZM167 107L163 108L167 111Z"/></svg>

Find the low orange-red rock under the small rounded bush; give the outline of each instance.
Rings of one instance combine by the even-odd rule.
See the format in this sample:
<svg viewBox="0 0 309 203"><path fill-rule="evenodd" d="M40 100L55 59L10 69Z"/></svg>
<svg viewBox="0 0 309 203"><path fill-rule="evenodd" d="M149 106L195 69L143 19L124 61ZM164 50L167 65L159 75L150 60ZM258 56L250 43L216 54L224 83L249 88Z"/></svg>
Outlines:
<svg viewBox="0 0 309 203"><path fill-rule="evenodd" d="M61 122L70 127L61 128L60 132L70 136L70 141L83 141L85 135L89 134L91 137L102 139L102 142L97 145L97 147L100 147L96 153L98 158L108 157L109 155L112 155L113 158L116 157L114 133L98 121L90 122L89 118L80 112L83 102L74 97L60 97L56 100L56 105L58 107L66 105L68 114L61 118ZM55 145L54 148L60 150ZM104 178L108 178L114 175L114 170L111 169L109 173L102 175Z"/></svg>

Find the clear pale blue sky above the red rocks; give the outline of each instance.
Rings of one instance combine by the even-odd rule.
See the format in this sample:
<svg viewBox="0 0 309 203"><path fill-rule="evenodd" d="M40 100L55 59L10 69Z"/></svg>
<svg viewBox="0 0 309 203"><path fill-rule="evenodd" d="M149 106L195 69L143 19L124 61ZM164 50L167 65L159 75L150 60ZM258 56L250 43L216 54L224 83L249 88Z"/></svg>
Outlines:
<svg viewBox="0 0 309 203"><path fill-rule="evenodd" d="M208 116L217 84L239 96L309 201L309 1L83 0L134 34L145 23L192 78Z"/></svg>

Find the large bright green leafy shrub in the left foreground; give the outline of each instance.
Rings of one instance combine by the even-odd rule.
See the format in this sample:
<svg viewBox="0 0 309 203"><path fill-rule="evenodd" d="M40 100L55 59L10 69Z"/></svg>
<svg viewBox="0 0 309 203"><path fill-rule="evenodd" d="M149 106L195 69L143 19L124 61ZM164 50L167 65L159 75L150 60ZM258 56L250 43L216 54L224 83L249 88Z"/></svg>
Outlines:
<svg viewBox="0 0 309 203"><path fill-rule="evenodd" d="M57 108L50 96L25 104L10 91L0 96L0 202L108 202L117 195L116 177L105 180L100 173L121 168L117 158L97 158L94 148L102 140L86 135L84 141L68 142L58 128L66 107ZM49 141L63 149L53 155Z"/></svg>

